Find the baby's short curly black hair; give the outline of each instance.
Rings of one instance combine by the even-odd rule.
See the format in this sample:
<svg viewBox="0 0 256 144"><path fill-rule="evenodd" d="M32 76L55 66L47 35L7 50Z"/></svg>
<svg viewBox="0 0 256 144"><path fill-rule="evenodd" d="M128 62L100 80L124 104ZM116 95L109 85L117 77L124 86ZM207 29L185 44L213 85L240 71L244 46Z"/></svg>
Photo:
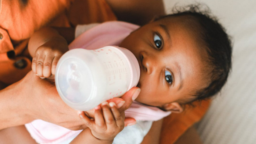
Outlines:
<svg viewBox="0 0 256 144"><path fill-rule="evenodd" d="M172 12L173 14L159 17L155 21L172 17L184 17L186 26L196 29L197 42L200 43L199 45L202 48L206 49L208 54L205 60L208 65L205 66L205 72L210 72L206 74L206 79L210 79L210 82L207 87L195 92L195 99L183 104L191 104L196 100L210 98L220 92L231 70L232 44L230 36L217 18L210 14L210 9L204 4L185 7L175 6Z"/></svg>

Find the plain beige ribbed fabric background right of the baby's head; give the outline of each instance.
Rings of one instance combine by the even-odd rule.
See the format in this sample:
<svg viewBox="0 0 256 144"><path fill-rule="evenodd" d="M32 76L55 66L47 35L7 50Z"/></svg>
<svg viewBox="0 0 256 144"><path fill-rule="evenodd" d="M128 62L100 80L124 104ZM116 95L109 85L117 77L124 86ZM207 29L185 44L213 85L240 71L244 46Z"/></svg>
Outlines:
<svg viewBox="0 0 256 144"><path fill-rule="evenodd" d="M233 68L228 83L196 125L204 144L256 144L256 1L200 0L233 37ZM164 0L167 13L174 4Z"/></svg>

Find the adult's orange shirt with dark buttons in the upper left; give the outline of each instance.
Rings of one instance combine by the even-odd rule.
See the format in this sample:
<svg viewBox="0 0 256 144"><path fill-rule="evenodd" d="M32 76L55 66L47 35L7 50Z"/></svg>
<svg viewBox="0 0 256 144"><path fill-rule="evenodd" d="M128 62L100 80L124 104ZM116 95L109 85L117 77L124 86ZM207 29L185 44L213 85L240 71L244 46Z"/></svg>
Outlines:
<svg viewBox="0 0 256 144"><path fill-rule="evenodd" d="M0 83L19 81L31 70L28 38L44 26L116 20L104 0L1 0Z"/></svg>

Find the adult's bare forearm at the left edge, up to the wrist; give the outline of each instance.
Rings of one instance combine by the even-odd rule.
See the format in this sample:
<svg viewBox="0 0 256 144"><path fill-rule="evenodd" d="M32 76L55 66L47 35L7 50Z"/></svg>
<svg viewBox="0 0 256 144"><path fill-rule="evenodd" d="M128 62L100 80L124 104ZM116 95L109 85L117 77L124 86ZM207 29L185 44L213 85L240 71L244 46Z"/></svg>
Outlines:
<svg viewBox="0 0 256 144"><path fill-rule="evenodd" d="M0 91L0 130L26 124L33 120L28 116L26 100L20 94L18 83Z"/></svg>

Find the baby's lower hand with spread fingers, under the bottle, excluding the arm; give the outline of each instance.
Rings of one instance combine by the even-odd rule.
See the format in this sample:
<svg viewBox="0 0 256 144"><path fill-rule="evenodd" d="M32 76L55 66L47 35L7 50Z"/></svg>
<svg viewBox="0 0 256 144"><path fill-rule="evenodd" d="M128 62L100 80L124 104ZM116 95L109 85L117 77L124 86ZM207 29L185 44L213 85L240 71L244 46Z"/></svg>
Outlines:
<svg viewBox="0 0 256 144"><path fill-rule="evenodd" d="M104 141L113 141L116 135L124 129L124 112L122 114L116 108L114 102L103 102L94 108L94 120L79 111L78 114L83 118L87 127L91 129L92 135Z"/></svg>

